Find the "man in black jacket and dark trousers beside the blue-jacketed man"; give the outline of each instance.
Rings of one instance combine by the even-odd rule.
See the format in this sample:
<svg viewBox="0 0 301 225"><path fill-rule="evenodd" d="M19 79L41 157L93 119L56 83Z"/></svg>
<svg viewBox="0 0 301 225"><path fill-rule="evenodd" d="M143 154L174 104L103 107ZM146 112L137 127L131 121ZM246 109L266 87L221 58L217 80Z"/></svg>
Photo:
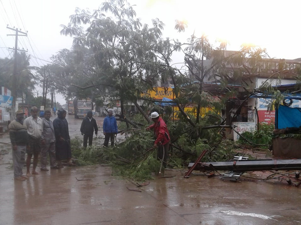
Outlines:
<svg viewBox="0 0 301 225"><path fill-rule="evenodd" d="M80 127L80 132L82 132L82 135L84 135L83 146L85 148L87 147L88 139L89 139L89 146L92 145L94 131L95 131L95 135L97 136L98 127L96 124L96 120L92 117L92 111L88 111L87 116L82 120L82 126Z"/></svg>

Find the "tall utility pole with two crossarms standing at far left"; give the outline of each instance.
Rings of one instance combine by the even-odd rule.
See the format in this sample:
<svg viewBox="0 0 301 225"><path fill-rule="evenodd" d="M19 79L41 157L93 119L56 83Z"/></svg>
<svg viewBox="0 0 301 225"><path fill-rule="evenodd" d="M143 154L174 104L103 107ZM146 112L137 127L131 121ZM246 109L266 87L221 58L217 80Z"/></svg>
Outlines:
<svg viewBox="0 0 301 225"><path fill-rule="evenodd" d="M18 50L19 51L23 51L23 52L27 52L26 50L22 50L22 49L18 49L18 36L27 36L27 32L22 32L21 30L18 30L18 28L14 29L14 28L10 28L10 27L6 27L7 29L13 30L14 32L16 32L14 35L7 35L7 36L15 36L15 47L14 48L9 48L9 49L13 49L14 52L14 74L13 74L13 86L12 86L12 96L13 96L13 104L11 107L11 120L13 120L15 118L15 113L16 113L16 100L17 100L17 55L18 55ZM23 34L20 35L19 33ZM23 99L23 93L22 93L22 99Z"/></svg>

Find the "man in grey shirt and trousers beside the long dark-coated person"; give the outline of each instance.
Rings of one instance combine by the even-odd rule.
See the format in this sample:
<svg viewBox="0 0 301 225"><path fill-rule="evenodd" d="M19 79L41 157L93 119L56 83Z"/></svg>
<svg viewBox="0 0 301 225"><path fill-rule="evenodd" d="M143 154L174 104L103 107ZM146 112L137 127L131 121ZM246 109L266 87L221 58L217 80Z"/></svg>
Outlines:
<svg viewBox="0 0 301 225"><path fill-rule="evenodd" d="M50 120L51 112L46 110L43 118L43 131L42 131L42 149L41 149L41 170L48 171L47 169L47 155L49 153L50 168L59 169L55 161L55 135L53 123Z"/></svg>

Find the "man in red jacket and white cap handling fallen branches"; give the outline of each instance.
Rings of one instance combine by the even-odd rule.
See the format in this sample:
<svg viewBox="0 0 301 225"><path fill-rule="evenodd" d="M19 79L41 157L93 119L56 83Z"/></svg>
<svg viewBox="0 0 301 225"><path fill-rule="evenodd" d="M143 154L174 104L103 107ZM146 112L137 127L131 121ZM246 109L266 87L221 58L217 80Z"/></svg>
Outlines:
<svg viewBox="0 0 301 225"><path fill-rule="evenodd" d="M157 112L151 113L151 119L152 121L154 121L154 124L150 125L148 128L146 128L146 130L154 128L154 134L156 136L154 147L158 147L157 158L159 160L163 160L163 166L166 167L167 154L169 151L170 142L169 132L166 123L162 118L159 117L159 114Z"/></svg>

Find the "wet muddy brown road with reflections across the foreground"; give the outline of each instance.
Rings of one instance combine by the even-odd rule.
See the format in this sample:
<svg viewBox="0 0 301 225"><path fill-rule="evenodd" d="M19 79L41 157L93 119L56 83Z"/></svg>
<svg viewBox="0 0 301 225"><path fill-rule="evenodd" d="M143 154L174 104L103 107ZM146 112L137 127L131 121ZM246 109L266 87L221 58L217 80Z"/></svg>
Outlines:
<svg viewBox="0 0 301 225"><path fill-rule="evenodd" d="M68 122L70 128L80 124ZM11 152L0 159L1 225L301 224L301 189L285 184L184 179L183 173L166 171L166 176L177 176L156 178L136 192L126 188L137 188L132 182L111 176L110 167L101 165L41 172L20 182L4 164L11 161Z"/></svg>

